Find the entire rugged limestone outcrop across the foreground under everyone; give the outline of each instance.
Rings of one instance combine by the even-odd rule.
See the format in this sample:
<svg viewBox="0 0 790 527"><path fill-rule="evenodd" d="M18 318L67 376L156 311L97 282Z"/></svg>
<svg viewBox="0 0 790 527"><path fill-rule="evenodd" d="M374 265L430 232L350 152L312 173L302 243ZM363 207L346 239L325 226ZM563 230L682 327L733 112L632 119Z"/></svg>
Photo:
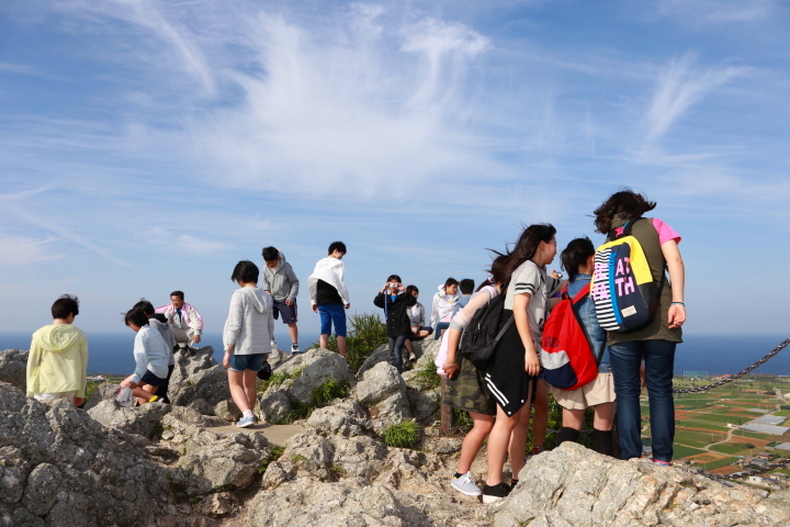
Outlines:
<svg viewBox="0 0 790 527"><path fill-rule="evenodd" d="M282 446L267 439L271 425L228 431L234 406L208 350L179 357L172 406L121 408L108 388L83 411L0 382L0 525L790 525L787 492L619 461L575 444L533 457L510 496L494 505L460 495L449 480L460 439L438 437L436 388L415 373L433 352L427 346L403 375L384 359L353 375L327 350L274 355L279 375L260 394L259 415L269 423L314 403L328 380L346 383L342 396L297 421L300 431ZM24 359L0 354L14 368ZM7 379L19 384L16 377ZM274 403L280 410L268 411ZM383 430L404 421L422 425L417 445L386 446Z"/></svg>

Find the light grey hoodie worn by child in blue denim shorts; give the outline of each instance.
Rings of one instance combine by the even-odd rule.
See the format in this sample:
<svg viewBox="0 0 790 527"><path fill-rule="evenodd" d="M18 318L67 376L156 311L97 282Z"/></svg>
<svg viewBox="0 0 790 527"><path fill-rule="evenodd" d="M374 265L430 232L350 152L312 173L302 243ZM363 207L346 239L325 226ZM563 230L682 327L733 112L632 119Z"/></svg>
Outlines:
<svg viewBox="0 0 790 527"><path fill-rule="evenodd" d="M230 296L230 312L223 330L223 345L234 345L233 355L271 354L274 335L272 298L260 288L241 288Z"/></svg>

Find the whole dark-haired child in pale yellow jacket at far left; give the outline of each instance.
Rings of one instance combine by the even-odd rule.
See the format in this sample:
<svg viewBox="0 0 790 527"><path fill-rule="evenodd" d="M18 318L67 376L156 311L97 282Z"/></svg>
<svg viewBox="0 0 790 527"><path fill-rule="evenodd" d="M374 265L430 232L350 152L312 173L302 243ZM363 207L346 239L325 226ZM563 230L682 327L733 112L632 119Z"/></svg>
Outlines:
<svg viewBox="0 0 790 527"><path fill-rule="evenodd" d="M33 334L27 356L27 396L38 401L68 399L84 403L88 339L74 326L77 296L64 294L52 305L53 323Z"/></svg>

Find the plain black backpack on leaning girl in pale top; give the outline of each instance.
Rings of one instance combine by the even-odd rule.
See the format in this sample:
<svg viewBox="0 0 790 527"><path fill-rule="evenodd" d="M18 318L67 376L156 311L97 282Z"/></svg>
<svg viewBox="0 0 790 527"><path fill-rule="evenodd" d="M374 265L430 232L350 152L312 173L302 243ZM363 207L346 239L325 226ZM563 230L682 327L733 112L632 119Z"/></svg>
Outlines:
<svg viewBox="0 0 790 527"><path fill-rule="evenodd" d="M512 315L510 315L510 318L500 326L507 285L503 285L503 288L505 293L489 300L475 311L461 339L461 357L471 360L478 370L488 368L499 339L514 322Z"/></svg>

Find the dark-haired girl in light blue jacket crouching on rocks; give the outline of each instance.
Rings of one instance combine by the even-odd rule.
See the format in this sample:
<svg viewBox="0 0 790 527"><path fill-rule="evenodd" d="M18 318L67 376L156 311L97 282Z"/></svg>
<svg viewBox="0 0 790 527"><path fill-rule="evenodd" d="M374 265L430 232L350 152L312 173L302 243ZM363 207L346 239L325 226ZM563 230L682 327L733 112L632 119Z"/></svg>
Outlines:
<svg viewBox="0 0 790 527"><path fill-rule="evenodd" d="M143 311L129 311L124 322L137 334L134 345L136 367L121 386L132 388L139 404L153 403L159 399L157 389L167 383L170 350L161 334L148 325L148 315Z"/></svg>

